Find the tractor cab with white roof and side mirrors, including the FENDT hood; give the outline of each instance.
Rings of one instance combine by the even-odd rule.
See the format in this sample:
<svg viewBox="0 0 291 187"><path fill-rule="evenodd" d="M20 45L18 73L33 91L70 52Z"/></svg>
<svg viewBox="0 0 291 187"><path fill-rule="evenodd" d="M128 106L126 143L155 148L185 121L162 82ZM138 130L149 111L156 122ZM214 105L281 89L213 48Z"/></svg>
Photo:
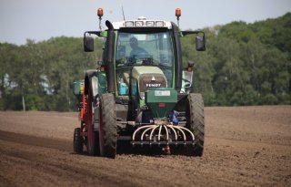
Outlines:
<svg viewBox="0 0 291 187"><path fill-rule="evenodd" d="M196 37L196 50L202 51L203 32L183 32L173 22L146 17L105 23L105 31L85 32L84 47L85 51L93 51L91 36L87 34L105 37L103 65L108 69L108 91L115 97L129 96L141 107L148 88L174 88L187 93L191 90L193 64L183 68L180 37L201 34Z"/></svg>

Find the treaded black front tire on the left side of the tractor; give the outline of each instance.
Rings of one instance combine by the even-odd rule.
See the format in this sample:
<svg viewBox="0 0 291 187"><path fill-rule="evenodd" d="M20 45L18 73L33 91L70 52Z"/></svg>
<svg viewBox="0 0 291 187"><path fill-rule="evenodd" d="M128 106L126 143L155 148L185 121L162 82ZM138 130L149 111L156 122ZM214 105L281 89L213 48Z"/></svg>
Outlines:
<svg viewBox="0 0 291 187"><path fill-rule="evenodd" d="M100 155L115 158L117 142L117 125L115 112L115 98L110 93L101 96L99 149Z"/></svg>

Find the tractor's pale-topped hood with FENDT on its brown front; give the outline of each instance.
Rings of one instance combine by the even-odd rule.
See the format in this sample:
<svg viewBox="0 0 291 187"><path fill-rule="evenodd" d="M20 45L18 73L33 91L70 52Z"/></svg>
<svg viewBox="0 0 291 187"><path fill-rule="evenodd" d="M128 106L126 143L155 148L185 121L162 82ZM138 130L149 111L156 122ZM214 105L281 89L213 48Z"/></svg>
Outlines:
<svg viewBox="0 0 291 187"><path fill-rule="evenodd" d="M166 77L163 71L157 67L134 67L132 78L137 80L138 92L141 99L145 99L145 91L148 88L166 88Z"/></svg>

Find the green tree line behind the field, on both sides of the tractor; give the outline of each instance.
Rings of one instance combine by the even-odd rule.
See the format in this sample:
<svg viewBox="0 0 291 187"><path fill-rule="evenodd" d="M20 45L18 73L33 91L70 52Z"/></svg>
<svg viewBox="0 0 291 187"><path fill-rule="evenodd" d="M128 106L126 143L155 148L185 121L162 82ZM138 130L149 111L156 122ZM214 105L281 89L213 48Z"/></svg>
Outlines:
<svg viewBox="0 0 291 187"><path fill-rule="evenodd" d="M182 38L183 61L194 61L195 91L206 106L291 104L291 13L253 24L202 29L206 52ZM0 43L0 110L75 110L73 82L101 59L83 52L83 38L52 37L23 46Z"/></svg>

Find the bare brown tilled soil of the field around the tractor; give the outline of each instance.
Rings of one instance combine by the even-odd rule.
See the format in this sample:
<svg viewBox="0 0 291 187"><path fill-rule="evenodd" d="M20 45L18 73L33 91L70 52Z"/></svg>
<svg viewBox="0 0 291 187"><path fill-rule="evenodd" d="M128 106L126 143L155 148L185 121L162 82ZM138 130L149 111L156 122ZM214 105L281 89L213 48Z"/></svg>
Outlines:
<svg viewBox="0 0 291 187"><path fill-rule="evenodd" d="M203 157L73 153L77 113L0 112L0 186L291 186L291 106L206 108Z"/></svg>

